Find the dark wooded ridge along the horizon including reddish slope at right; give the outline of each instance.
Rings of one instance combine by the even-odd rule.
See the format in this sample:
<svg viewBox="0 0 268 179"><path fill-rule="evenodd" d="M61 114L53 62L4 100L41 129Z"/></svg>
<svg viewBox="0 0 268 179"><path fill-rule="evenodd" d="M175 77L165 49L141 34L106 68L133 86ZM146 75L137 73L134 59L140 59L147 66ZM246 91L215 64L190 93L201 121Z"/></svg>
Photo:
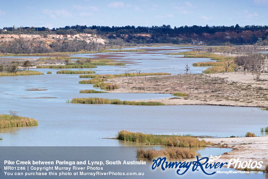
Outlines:
<svg viewBox="0 0 268 179"><path fill-rule="evenodd" d="M253 44L259 38L262 40L268 37L268 25L246 25L239 26L180 26L172 28L170 25L162 26L86 26L75 25L60 28L49 29L46 27L4 27L0 29L0 33L8 34L58 34L58 35L75 35L77 33L98 34L107 37L111 45L122 43L173 43L173 44L189 44L199 43L208 45L218 45L224 43L233 44ZM244 33L249 31L249 33ZM256 33L258 31L258 33ZM225 33L227 38L220 34ZM208 34L206 36L204 34ZM121 41L120 41L121 39Z"/></svg>

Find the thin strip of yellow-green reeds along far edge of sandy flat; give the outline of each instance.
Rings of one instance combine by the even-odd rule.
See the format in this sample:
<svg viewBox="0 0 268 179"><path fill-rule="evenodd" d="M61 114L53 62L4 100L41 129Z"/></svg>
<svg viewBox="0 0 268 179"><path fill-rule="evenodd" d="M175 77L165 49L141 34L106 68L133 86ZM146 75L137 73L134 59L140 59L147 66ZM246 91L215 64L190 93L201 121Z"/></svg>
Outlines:
<svg viewBox="0 0 268 179"><path fill-rule="evenodd" d="M124 73L117 75L80 75L80 78L102 78L102 79L114 79L116 77L145 77L145 76L160 76L160 75L171 75L171 73Z"/></svg>

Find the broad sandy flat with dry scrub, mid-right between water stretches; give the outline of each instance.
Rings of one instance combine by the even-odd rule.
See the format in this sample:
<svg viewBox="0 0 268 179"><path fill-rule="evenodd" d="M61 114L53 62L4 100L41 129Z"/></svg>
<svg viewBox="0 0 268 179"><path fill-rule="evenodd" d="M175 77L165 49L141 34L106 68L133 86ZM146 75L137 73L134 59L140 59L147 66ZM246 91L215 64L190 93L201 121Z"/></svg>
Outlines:
<svg viewBox="0 0 268 179"><path fill-rule="evenodd" d="M250 73L194 74L121 77L110 82L120 86L112 93L187 93L188 97L148 99L166 105L268 106L268 74L255 81Z"/></svg>

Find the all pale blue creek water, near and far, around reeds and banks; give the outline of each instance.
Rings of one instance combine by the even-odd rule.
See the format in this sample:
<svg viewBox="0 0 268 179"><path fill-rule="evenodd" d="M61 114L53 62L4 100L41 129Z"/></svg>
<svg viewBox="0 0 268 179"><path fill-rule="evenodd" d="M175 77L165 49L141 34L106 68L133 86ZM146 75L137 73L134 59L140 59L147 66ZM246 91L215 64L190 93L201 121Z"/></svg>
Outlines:
<svg viewBox="0 0 268 179"><path fill-rule="evenodd" d="M163 55L188 49L181 47L146 47L146 52L77 54L75 57L109 57L132 61L126 66L98 66L97 74L119 74L141 69L142 72L184 73L185 63L208 61ZM191 73L201 73L207 67L192 67ZM0 146L133 146L143 144L115 139L120 130L153 134L191 134L195 136L230 137L253 132L264 135L261 127L268 126L267 111L249 107L224 106L128 106L85 105L66 103L72 98L99 97L120 100L159 99L170 94L79 94L80 90L95 89L92 84L78 84L79 75L56 74L57 69L37 69L39 76L0 78L0 113L16 111L19 116L35 118L39 125L0 129ZM72 69L81 70L81 69ZM53 74L46 74L52 71ZM40 91L31 91L37 89ZM30 90L30 91L29 91ZM258 119L258 120L253 120ZM156 149L162 147L155 146ZM195 148L201 156L221 155L230 149ZM227 170L227 169L224 169ZM173 176L173 174L172 174ZM192 176L192 175L191 175ZM259 176L259 175L258 175ZM262 176L263 177L263 176Z"/></svg>

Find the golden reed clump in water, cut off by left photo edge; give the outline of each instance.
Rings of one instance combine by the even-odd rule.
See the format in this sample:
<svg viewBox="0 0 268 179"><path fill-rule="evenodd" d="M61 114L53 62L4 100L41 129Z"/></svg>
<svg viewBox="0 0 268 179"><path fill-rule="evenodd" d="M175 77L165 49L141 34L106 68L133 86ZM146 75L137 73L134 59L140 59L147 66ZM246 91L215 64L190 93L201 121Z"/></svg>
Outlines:
<svg viewBox="0 0 268 179"><path fill-rule="evenodd" d="M38 121L33 118L20 117L16 115L0 115L0 128L35 125L38 125Z"/></svg>

